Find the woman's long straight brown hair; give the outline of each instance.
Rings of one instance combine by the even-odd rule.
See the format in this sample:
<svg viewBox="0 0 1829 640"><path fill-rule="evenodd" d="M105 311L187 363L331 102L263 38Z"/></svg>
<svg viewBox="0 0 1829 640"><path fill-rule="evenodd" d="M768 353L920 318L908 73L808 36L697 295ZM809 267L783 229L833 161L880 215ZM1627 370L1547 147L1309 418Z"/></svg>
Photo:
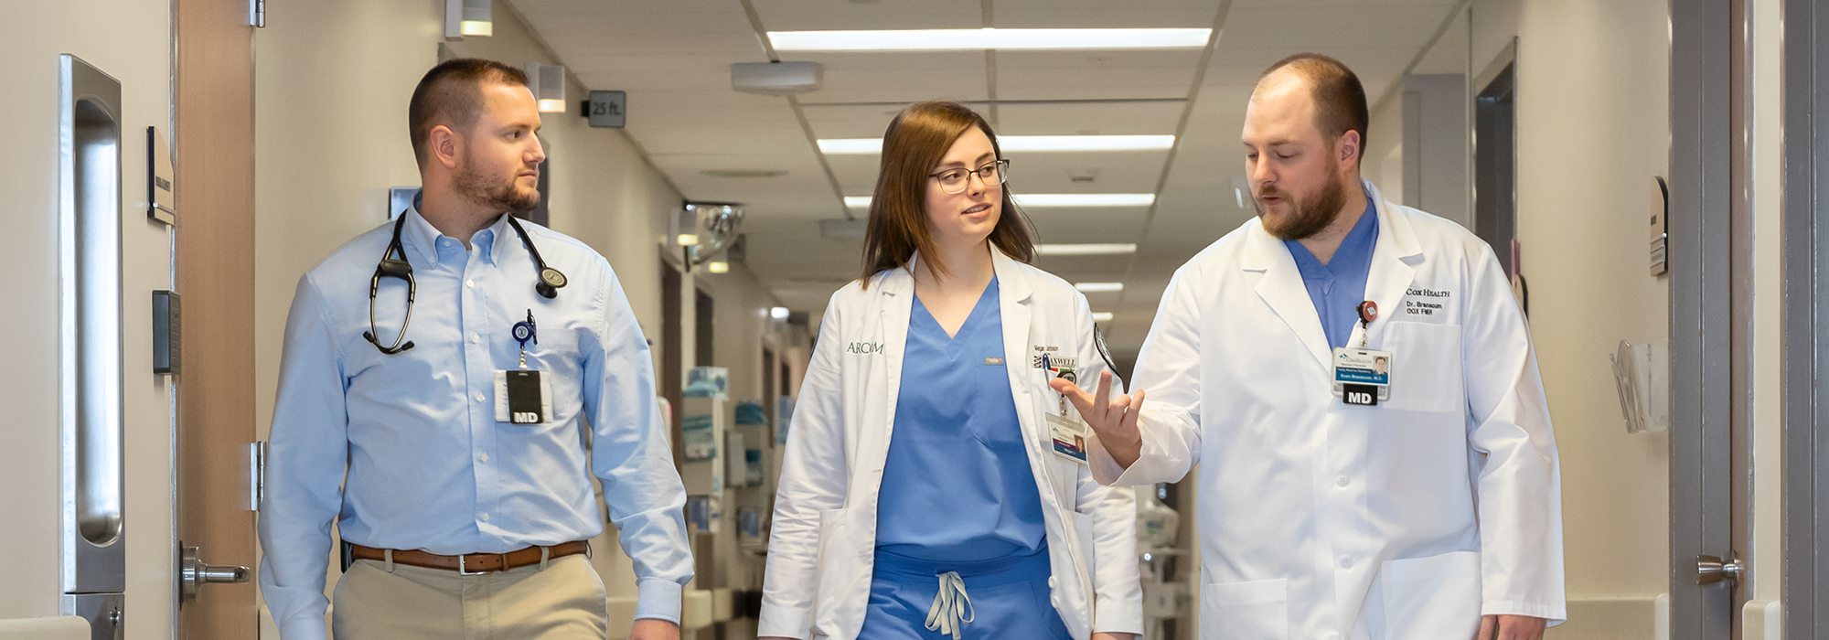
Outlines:
<svg viewBox="0 0 1829 640"><path fill-rule="evenodd" d="M927 179L940 157L971 128L991 139L991 150L1002 157L997 133L982 115L958 102L929 101L909 104L883 132L883 159L876 174L876 194L871 197L871 218L863 232L863 287L871 276L905 265L914 252L935 256L933 232L927 229ZM1010 188L1002 190L1002 208L991 229L991 245L1021 261L1035 260L1028 219ZM946 265L929 261L936 276L946 276Z"/></svg>

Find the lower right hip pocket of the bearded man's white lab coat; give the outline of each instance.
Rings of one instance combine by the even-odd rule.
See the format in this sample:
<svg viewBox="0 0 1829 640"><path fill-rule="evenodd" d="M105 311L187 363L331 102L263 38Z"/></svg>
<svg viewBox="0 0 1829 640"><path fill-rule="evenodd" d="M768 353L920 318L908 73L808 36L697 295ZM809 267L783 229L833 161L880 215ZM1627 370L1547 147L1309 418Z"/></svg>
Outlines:
<svg viewBox="0 0 1829 640"><path fill-rule="evenodd" d="M1480 629L1480 552L1388 560L1377 580L1385 638L1472 638Z"/></svg>

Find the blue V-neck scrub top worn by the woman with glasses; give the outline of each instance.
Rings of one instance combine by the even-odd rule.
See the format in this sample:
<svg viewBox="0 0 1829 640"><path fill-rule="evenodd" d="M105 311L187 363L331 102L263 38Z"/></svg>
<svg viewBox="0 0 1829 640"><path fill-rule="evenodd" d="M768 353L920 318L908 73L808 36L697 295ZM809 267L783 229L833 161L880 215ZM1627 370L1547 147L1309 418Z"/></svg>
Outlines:
<svg viewBox="0 0 1829 640"><path fill-rule="evenodd" d="M914 298L876 507L878 550L982 561L1046 545L997 300L991 278L958 335L947 336Z"/></svg>

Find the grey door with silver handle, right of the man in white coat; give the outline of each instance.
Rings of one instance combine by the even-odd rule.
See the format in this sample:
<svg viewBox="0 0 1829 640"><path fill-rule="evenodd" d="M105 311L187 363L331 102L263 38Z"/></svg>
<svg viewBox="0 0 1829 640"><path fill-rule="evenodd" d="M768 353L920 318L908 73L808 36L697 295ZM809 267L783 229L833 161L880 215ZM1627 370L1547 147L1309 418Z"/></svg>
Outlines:
<svg viewBox="0 0 1829 640"><path fill-rule="evenodd" d="M1738 638L1749 583L1745 18L1670 2L1672 638Z"/></svg>

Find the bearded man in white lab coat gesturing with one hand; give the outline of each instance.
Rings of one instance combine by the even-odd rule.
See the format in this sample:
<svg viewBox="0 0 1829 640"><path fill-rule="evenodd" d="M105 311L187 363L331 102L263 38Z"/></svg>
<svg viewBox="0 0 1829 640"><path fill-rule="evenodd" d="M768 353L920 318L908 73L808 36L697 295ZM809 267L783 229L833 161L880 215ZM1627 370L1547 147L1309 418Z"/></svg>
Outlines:
<svg viewBox="0 0 1829 640"><path fill-rule="evenodd" d="M1271 66L1258 216L1176 271L1134 395L1054 386L1101 483L1205 463L1202 638L1540 638L1562 508L1525 318L1491 247L1359 179L1364 135L1346 66Z"/></svg>

